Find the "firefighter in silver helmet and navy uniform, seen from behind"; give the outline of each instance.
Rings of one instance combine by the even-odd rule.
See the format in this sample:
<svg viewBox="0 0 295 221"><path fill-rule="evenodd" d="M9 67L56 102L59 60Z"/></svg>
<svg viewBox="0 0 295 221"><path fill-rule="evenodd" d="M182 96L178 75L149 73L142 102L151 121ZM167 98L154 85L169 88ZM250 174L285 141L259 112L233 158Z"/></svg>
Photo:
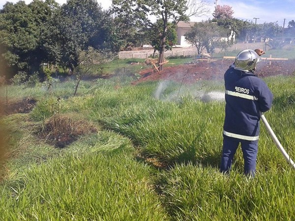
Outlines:
<svg viewBox="0 0 295 221"><path fill-rule="evenodd" d="M266 83L254 75L261 49L243 50L224 74L225 119L220 171L231 169L238 144L244 158L244 173L255 176L258 153L259 121L272 105L273 95Z"/></svg>

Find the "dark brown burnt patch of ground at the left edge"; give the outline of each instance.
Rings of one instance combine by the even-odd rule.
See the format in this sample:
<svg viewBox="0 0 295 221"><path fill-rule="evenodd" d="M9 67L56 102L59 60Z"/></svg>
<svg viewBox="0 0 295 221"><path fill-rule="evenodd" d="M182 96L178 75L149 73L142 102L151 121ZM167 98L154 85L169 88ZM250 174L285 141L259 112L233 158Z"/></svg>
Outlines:
<svg viewBox="0 0 295 221"><path fill-rule="evenodd" d="M31 98L23 99L17 102L0 102L0 115L9 115L13 113L29 113L36 105L37 101Z"/></svg>

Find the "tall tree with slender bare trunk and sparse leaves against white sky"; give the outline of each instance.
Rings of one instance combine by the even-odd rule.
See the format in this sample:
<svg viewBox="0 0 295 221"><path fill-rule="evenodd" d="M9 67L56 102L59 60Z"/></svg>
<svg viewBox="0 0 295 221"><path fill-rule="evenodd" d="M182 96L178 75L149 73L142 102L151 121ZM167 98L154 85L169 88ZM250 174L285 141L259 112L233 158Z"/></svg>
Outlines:
<svg viewBox="0 0 295 221"><path fill-rule="evenodd" d="M156 28L152 20L161 20L159 28L159 63L164 61L169 22L188 21L190 16L208 12L205 0L113 0L113 12L132 15L143 27ZM159 70L162 70L160 65Z"/></svg>

